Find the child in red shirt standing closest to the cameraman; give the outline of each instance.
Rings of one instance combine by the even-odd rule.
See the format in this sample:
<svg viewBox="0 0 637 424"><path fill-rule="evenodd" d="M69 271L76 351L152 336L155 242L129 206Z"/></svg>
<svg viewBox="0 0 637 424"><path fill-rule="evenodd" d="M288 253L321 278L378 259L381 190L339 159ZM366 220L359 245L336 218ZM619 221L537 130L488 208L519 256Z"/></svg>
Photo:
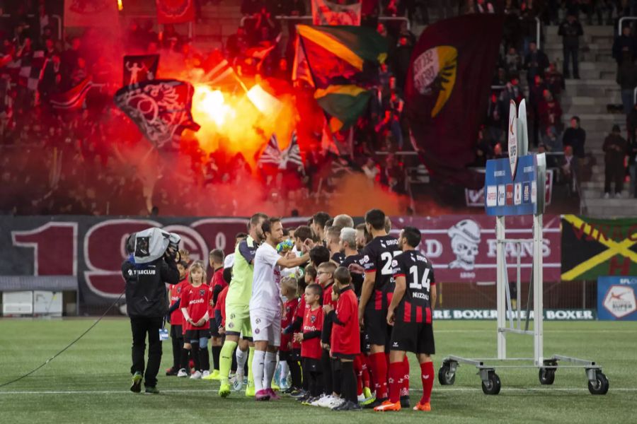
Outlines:
<svg viewBox="0 0 637 424"><path fill-rule="evenodd" d="M185 261L177 262L179 271L179 283L171 284L168 287L168 295L171 298L171 307L168 309L168 317L171 322L171 341L173 342L173 366L166 370L166 375L179 375L183 368L185 377L185 367L188 366L188 351L183 348L183 314L179 309L182 290L188 286L185 279L188 264Z"/></svg>

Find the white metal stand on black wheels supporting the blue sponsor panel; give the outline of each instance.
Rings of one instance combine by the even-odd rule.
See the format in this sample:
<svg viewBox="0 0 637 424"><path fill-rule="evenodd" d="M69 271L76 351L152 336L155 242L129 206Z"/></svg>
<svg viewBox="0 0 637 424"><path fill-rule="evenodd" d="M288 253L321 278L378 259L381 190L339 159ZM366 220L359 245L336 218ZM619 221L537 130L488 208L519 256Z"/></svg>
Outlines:
<svg viewBox="0 0 637 424"><path fill-rule="evenodd" d="M520 117L516 119L515 102L511 102L510 106L510 122L509 122L509 151L511 162L510 179L515 178L517 163L517 153L520 156L527 155L527 127L526 127L526 107L524 100L520 103ZM517 130L517 131L516 131ZM517 139L520 134L520 139ZM522 159L522 158L521 158ZM527 158L528 159L528 158ZM460 356L449 355L444 358L442 367L438 372L438 381L442 385L454 384L456 372L459 365L474 365L478 369L478 374L482 379L482 391L485 394L498 394L502 386L500 377L495 373L497 368L537 368L539 370L540 384L553 384L555 381L555 373L558 368L582 368L586 372L588 379L588 390L591 394L606 394L609 388L607 377L602 372L602 367L597 365L595 361L571 358L563 355L553 355L550 358L544 357L544 334L543 334L543 278L542 278L542 212L544 211L544 175L546 175L546 158L544 154L536 155L534 159L536 164L536 211L533 213L533 237L532 239L507 238L505 235L505 215L520 215L520 209L509 213L511 210L506 206L494 209L497 212L495 218L495 236L496 236L496 302L498 304L498 357L497 358L462 358ZM489 169L487 169L487 181ZM502 171L500 171L502 172ZM526 171L525 171L526 172ZM497 172L496 172L497 173ZM504 174L504 172L502 172ZM517 178L515 179L517 181ZM497 187L497 186L496 186ZM491 199L489 205L488 188L485 187L485 196L487 198L487 209L489 206L500 205L499 188L495 189L495 204ZM492 189L492 193L493 193ZM532 242L533 265L532 275L529 287L529 298L527 300L527 309L524 317L524 328L522 328L522 302L520 302L520 285L521 285L521 266L520 254L517 254L517 311L512 307L507 264L505 257L505 245L512 243L517 247L517 252L522 251L524 243ZM533 295L533 329L529 330L529 321L531 320L530 304L531 295ZM507 334L527 334L533 336L534 355L533 358L507 358ZM495 365L494 362L509 365ZM525 363L531 363L528 365Z"/></svg>

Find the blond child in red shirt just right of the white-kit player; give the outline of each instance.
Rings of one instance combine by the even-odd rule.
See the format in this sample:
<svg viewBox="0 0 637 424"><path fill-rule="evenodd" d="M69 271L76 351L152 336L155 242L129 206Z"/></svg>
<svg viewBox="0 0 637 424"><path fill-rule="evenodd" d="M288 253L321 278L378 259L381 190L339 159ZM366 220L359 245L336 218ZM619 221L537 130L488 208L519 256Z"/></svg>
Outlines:
<svg viewBox="0 0 637 424"><path fill-rule="evenodd" d="M281 317L281 328L285 329L289 324L292 324L295 314L297 313L297 307L299 306L299 296L297 295L297 279L289 276L285 277L281 281L281 295L287 300L283 304L283 314ZM299 367L299 360L301 359L300 346L299 350L294 351L292 346L292 333L281 334L281 346L279 348L279 361L286 363L289 368L289 375L292 377L292 384L286 389L287 393L291 393L294 390L301 388L301 367ZM283 372L281 373L283 375ZM283 380L283 378L282 378ZM281 387L284 387L284 382L281 381Z"/></svg>

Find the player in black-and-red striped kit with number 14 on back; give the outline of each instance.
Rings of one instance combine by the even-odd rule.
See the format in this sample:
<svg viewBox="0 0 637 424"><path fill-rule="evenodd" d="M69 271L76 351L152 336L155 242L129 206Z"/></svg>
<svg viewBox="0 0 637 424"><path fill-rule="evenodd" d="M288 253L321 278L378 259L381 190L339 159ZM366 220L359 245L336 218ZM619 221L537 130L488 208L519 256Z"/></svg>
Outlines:
<svg viewBox="0 0 637 424"><path fill-rule="evenodd" d="M434 370L431 355L435 353L432 308L436 302L436 285L431 262L416 248L420 245L420 230L405 227L401 231L403 250L392 264L396 289L387 311L387 322L393 324L389 353L389 401L374 411L400 411L402 379L409 373L403 358L413 352L420 362L423 397L414 411L431 411L430 397Z"/></svg>

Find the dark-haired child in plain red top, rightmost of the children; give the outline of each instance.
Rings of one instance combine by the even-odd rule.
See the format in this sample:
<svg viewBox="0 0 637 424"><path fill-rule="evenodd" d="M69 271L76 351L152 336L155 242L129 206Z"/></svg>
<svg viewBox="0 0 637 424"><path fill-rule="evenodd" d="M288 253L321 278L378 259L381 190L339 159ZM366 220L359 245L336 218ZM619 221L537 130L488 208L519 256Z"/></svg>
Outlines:
<svg viewBox="0 0 637 424"><path fill-rule="evenodd" d="M338 292L336 310L324 305L323 312L333 322L330 338L330 354L340 359L341 398L343 402L334 411L356 411L360 409L356 394L354 359L360 354L360 326L358 324L358 300L352 288L352 276L344 266L334 271L335 292Z"/></svg>

